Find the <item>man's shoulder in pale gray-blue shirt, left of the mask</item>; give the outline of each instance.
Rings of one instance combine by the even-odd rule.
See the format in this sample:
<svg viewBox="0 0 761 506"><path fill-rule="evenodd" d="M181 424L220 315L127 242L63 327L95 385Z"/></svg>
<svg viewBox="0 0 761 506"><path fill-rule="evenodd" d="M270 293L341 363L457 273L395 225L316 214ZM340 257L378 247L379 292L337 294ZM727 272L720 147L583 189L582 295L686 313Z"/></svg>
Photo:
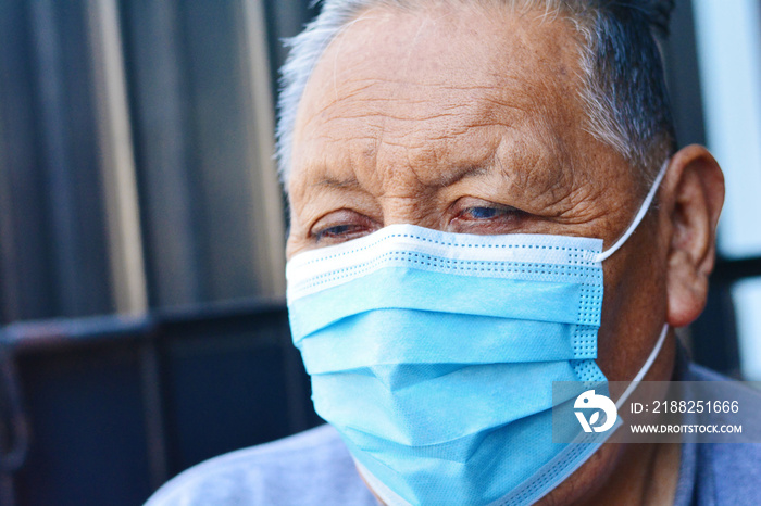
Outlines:
<svg viewBox="0 0 761 506"><path fill-rule="evenodd" d="M321 426L192 467L146 506L375 504L338 433Z"/></svg>

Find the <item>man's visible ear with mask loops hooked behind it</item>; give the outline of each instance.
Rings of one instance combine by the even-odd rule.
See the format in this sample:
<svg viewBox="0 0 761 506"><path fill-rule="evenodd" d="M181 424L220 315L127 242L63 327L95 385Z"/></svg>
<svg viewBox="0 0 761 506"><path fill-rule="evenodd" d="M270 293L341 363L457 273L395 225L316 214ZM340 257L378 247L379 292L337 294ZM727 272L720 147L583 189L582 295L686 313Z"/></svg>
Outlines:
<svg viewBox="0 0 761 506"><path fill-rule="evenodd" d="M661 189L661 218L668 220L666 319L693 322L706 306L708 276L716 254L716 224L724 203L724 175L702 146L671 159Z"/></svg>

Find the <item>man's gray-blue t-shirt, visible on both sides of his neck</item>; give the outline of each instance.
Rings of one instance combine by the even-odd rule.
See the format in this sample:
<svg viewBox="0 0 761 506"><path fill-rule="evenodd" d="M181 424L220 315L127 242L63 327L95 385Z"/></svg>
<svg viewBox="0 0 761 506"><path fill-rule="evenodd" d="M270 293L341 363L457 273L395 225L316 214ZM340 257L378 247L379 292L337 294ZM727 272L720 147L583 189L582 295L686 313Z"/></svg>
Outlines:
<svg viewBox="0 0 761 506"><path fill-rule="evenodd" d="M725 379L695 365L678 376L685 381ZM683 443L674 504L761 504L761 444ZM375 506L377 501L336 430L322 426L202 463L146 504L170 505Z"/></svg>

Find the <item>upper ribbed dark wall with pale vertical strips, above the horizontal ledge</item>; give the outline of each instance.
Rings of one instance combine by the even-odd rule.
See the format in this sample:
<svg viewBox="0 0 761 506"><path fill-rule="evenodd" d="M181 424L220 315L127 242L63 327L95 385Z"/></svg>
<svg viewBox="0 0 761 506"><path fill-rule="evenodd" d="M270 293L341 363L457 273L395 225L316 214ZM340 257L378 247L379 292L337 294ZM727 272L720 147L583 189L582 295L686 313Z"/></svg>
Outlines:
<svg viewBox="0 0 761 506"><path fill-rule="evenodd" d="M0 0L0 322L284 294L303 1Z"/></svg>

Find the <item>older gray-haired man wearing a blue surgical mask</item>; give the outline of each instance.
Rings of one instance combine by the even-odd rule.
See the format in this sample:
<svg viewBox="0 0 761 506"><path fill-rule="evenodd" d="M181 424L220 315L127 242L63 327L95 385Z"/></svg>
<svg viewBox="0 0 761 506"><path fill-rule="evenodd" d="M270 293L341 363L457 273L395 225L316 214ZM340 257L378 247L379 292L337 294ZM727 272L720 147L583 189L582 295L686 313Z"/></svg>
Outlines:
<svg viewBox="0 0 761 506"><path fill-rule="evenodd" d="M553 381L707 375L671 329L706 303L723 176L674 148L669 3L327 0L278 136L291 330L330 425L149 504L750 501L747 448L548 432Z"/></svg>

